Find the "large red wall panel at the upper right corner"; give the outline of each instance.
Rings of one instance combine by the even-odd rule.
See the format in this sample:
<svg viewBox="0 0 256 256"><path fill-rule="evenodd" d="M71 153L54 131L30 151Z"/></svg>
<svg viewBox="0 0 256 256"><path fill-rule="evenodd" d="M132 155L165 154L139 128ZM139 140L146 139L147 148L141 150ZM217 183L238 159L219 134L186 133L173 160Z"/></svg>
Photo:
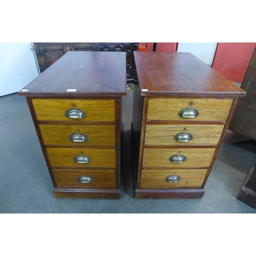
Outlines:
<svg viewBox="0 0 256 256"><path fill-rule="evenodd" d="M255 42L219 42L212 68L232 82L242 83Z"/></svg>

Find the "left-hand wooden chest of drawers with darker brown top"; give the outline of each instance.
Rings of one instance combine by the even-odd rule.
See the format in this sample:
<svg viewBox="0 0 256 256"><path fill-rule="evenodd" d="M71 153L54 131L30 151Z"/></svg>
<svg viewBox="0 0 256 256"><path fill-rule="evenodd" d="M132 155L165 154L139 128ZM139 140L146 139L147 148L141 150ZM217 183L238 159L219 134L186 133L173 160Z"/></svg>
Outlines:
<svg viewBox="0 0 256 256"><path fill-rule="evenodd" d="M68 52L26 96L58 198L120 199L125 53Z"/></svg>

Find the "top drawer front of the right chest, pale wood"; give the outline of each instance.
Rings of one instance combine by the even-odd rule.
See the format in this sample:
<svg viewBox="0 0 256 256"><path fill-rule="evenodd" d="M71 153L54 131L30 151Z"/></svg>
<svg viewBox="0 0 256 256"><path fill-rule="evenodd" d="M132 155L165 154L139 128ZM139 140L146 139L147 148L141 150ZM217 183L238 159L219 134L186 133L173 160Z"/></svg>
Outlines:
<svg viewBox="0 0 256 256"><path fill-rule="evenodd" d="M178 116L180 110L191 107L199 111L195 118ZM228 99L148 99L147 120L226 121L233 100Z"/></svg>

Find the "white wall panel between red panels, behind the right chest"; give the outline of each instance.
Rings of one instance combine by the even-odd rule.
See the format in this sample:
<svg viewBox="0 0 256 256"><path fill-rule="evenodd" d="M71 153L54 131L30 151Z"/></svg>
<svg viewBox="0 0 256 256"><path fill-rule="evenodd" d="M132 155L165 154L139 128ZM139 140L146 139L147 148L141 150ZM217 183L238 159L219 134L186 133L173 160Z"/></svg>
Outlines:
<svg viewBox="0 0 256 256"><path fill-rule="evenodd" d="M190 52L211 66L217 44L217 42L179 42L177 52Z"/></svg>

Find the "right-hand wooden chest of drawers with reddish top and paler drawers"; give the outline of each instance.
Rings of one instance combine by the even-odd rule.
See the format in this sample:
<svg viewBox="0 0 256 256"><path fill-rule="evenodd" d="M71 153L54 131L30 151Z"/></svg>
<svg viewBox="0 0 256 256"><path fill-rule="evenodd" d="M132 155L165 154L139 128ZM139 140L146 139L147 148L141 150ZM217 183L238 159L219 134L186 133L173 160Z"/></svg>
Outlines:
<svg viewBox="0 0 256 256"><path fill-rule="evenodd" d="M135 198L202 198L246 93L190 53L134 52Z"/></svg>

